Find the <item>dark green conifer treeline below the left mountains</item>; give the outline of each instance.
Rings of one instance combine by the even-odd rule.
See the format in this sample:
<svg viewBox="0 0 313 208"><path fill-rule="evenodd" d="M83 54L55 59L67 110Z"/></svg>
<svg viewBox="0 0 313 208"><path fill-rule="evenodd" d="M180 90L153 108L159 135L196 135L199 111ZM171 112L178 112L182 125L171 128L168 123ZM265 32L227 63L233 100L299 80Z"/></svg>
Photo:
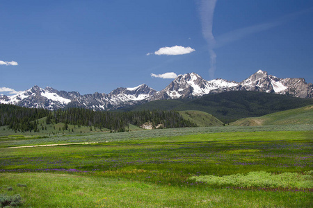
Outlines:
<svg viewBox="0 0 313 208"><path fill-rule="evenodd" d="M106 128L111 132L123 132L129 130L129 124L143 125L150 123L152 128L181 128L195 127L195 123L183 119L175 111L168 110L141 110L136 112L99 112L83 108L70 108L67 110L48 111L36 108L18 107L15 105L0 105L1 125L15 131L38 132L38 119L46 117L46 124L64 123L67 125L93 126L94 128Z"/></svg>

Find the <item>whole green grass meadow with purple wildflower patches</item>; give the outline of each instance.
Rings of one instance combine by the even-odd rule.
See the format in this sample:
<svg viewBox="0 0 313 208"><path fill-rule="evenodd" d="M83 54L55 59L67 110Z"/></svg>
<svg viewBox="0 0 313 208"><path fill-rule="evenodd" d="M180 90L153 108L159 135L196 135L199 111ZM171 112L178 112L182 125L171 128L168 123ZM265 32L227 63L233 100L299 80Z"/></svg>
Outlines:
<svg viewBox="0 0 313 208"><path fill-rule="evenodd" d="M97 143L8 148L66 142ZM20 207L312 207L312 143L313 125L3 135L0 194Z"/></svg>

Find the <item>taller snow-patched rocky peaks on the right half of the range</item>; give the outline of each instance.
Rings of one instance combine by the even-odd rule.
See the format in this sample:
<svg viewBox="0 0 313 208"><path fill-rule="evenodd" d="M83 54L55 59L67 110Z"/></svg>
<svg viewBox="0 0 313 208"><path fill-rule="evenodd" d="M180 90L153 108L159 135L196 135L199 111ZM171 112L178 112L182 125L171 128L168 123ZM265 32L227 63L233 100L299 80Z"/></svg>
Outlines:
<svg viewBox="0 0 313 208"><path fill-rule="evenodd" d="M240 83L223 79L204 80L197 73L179 75L165 89L157 92L150 101L161 99L195 98L204 94L228 91L258 91L287 94L299 98L313 98L313 85L304 78L277 78L259 70Z"/></svg>

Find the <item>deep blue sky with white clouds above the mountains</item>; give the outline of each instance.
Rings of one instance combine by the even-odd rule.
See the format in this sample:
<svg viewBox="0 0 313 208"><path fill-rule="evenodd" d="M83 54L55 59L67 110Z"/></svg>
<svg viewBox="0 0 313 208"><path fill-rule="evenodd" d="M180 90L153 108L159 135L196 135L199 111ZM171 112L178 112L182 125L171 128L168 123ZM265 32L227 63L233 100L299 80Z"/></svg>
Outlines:
<svg viewBox="0 0 313 208"><path fill-rule="evenodd" d="M312 0L0 1L0 94L109 94L195 72L313 83Z"/></svg>

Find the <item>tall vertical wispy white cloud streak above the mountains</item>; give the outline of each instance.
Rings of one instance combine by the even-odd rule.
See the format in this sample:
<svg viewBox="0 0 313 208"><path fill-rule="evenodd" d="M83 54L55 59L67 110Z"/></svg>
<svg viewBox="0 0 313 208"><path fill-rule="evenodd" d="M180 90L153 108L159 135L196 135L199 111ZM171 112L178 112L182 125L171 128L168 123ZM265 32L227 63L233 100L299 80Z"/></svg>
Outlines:
<svg viewBox="0 0 313 208"><path fill-rule="evenodd" d="M216 70L216 53L214 47L216 40L212 33L213 16L217 0L200 0L200 19L202 25L202 35L207 41L210 55L209 76L214 78L214 71Z"/></svg>

